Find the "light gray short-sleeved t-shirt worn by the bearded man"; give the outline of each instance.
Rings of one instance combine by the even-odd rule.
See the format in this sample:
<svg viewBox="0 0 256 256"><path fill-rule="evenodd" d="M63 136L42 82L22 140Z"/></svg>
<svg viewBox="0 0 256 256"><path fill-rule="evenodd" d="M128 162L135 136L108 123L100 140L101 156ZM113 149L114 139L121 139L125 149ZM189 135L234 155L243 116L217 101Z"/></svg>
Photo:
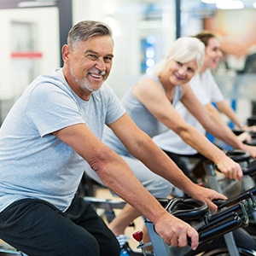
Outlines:
<svg viewBox="0 0 256 256"><path fill-rule="evenodd" d="M35 79L0 129L0 211L23 198L49 201L65 211L78 189L85 160L52 132L84 123L102 139L104 124L124 113L106 83L83 101L61 69Z"/></svg>

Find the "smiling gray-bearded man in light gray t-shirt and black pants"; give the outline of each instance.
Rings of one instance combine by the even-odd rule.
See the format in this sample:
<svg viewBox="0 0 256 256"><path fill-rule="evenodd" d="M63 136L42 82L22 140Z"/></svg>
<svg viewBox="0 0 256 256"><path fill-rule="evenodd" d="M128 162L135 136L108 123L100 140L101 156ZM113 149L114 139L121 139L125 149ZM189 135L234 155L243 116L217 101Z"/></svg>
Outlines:
<svg viewBox="0 0 256 256"><path fill-rule="evenodd" d="M108 125L131 154L187 194L213 209L212 199L225 198L185 177L120 106L105 83L113 61L108 26L91 20L73 26L62 58L63 68L29 84L1 127L0 238L28 255L118 256L113 233L76 195L87 163L167 244L183 247L189 236L195 249L197 232L166 212L101 141Z"/></svg>

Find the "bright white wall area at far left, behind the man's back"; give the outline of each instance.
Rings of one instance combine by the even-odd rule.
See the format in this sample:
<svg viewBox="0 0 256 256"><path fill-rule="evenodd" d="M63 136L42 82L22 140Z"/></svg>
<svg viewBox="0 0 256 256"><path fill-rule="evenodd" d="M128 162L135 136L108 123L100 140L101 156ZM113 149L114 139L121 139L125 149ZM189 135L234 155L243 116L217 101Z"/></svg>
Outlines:
<svg viewBox="0 0 256 256"><path fill-rule="evenodd" d="M35 27L35 50L41 52L43 57L37 60L23 60L19 65L18 59L12 59L13 51L12 38L12 21L32 23ZM34 76L46 73L60 65L59 54L59 25L58 25L58 9L2 9L0 10L0 99L9 99L18 96L22 89L31 82L31 78L25 71L29 65L37 65ZM15 38L19 35L15 35ZM23 38L22 38L23 37ZM20 33L20 40L26 35Z"/></svg>

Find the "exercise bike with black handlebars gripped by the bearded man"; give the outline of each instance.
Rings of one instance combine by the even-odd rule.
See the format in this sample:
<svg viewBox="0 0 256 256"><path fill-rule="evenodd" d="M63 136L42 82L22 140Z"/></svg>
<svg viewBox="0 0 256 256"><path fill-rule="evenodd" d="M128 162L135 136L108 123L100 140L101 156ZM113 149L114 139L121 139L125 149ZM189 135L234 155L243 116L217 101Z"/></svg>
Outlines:
<svg viewBox="0 0 256 256"><path fill-rule="evenodd" d="M137 231L133 237L139 241L138 248L147 255L144 247L152 245L154 256L217 256L217 255L256 255L256 244L253 239L241 227L247 226L248 214L256 210L256 189L248 189L227 201L216 201L218 212L212 213L206 204L191 198L173 198L171 200L160 199L160 203L167 212L177 218L188 222L198 231L200 244L195 251L187 247L172 247L166 243L154 231L154 224L145 219L151 242L143 244L143 233ZM224 236L230 234L236 237L235 247L227 246Z"/></svg>

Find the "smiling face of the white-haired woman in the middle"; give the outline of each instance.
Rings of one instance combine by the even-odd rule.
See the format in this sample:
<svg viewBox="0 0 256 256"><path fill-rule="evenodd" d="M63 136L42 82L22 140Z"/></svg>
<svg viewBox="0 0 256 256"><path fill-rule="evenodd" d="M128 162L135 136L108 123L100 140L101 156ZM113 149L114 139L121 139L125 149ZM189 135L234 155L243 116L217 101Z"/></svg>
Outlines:
<svg viewBox="0 0 256 256"><path fill-rule="evenodd" d="M197 69L196 61L189 61L187 63L181 63L179 61L169 61L166 65L168 68L167 75L173 85L182 85L189 82L195 75Z"/></svg>

